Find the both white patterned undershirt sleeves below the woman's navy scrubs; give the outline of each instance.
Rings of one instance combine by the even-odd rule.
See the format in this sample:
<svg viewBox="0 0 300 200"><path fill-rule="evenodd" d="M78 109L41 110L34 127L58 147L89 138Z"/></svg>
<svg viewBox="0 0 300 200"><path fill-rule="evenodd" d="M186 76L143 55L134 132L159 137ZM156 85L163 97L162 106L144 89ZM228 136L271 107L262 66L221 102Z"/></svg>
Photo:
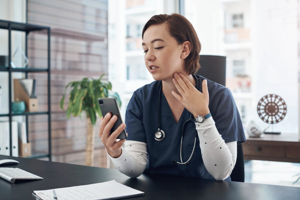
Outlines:
<svg viewBox="0 0 300 200"><path fill-rule="evenodd" d="M230 176L235 166L237 142L227 142L219 134L212 117L202 123L195 123L199 137L199 146L205 168L217 181ZM155 148L155 147L148 147ZM179 147L180 148L180 147ZM122 154L118 158L108 156L123 174L135 178L140 176L148 162L147 144L145 142L125 141Z"/></svg>

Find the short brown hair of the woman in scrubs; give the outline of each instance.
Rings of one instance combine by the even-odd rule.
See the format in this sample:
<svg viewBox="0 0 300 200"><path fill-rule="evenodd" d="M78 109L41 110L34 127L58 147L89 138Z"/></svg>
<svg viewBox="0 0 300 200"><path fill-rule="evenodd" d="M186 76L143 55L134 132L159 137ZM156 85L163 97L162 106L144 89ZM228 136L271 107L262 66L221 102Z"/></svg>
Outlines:
<svg viewBox="0 0 300 200"><path fill-rule="evenodd" d="M142 38L144 37L144 33L147 28L151 25L163 23L168 25L170 35L176 39L178 44L182 44L185 41L190 42L190 54L184 59L185 71L188 74L196 73L196 71L200 68L199 53L201 51L201 43L193 25L184 16L176 13L152 16L143 28Z"/></svg>

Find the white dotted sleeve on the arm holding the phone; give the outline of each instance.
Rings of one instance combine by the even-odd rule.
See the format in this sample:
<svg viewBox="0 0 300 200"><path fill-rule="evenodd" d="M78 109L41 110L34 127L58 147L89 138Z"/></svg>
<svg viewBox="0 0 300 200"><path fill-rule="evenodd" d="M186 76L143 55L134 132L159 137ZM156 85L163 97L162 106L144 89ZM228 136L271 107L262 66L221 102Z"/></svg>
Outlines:
<svg viewBox="0 0 300 200"><path fill-rule="evenodd" d="M136 178L145 170L148 162L147 154L147 144L145 142L126 140L120 157L113 158L109 154L107 155L121 173Z"/></svg>

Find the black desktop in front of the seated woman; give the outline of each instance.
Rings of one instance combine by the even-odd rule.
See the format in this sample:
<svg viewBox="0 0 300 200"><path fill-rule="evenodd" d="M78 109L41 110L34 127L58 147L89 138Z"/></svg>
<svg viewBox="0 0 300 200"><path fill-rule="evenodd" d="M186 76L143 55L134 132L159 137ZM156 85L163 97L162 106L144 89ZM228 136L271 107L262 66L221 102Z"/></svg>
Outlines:
<svg viewBox="0 0 300 200"><path fill-rule="evenodd" d="M214 181L168 175L141 175L128 178L116 169L105 169L26 159L0 155L1 159L15 159L18 167L44 178L44 180L16 180L0 178L0 199L35 199L33 190L48 190L94 184L115 179L117 182L145 192L145 196L131 199L299 199L299 187L266 184ZM3 166L2 166L3 167Z"/></svg>

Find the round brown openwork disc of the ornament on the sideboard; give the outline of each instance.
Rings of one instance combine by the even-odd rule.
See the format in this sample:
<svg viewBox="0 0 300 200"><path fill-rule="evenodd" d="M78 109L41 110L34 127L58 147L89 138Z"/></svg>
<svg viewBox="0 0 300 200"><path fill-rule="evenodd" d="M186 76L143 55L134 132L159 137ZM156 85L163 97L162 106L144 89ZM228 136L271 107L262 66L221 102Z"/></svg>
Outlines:
<svg viewBox="0 0 300 200"><path fill-rule="evenodd" d="M280 96L268 94L259 100L257 113L262 121L268 124L276 124L285 117L286 104Z"/></svg>

